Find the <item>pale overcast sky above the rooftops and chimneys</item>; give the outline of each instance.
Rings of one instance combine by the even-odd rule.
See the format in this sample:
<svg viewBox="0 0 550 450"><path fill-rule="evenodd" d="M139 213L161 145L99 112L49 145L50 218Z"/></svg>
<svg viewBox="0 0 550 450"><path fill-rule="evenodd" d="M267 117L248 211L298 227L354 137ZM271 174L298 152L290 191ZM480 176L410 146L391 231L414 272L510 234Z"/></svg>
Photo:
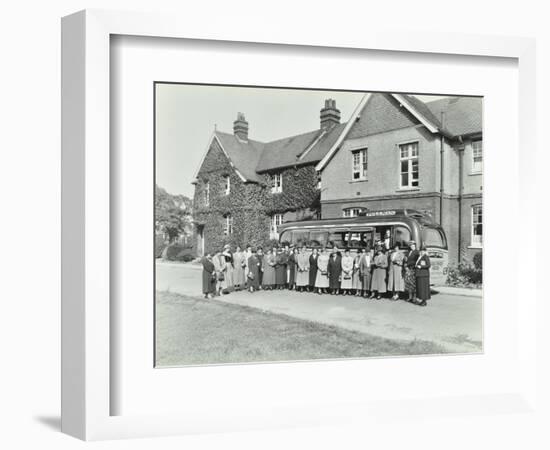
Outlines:
<svg viewBox="0 0 550 450"><path fill-rule="evenodd" d="M248 121L248 136L267 142L318 129L319 111L327 98L336 100L342 122L347 122L362 96L342 91L157 84L157 184L171 194L192 198L193 175L214 127L232 133L238 112Z"/></svg>

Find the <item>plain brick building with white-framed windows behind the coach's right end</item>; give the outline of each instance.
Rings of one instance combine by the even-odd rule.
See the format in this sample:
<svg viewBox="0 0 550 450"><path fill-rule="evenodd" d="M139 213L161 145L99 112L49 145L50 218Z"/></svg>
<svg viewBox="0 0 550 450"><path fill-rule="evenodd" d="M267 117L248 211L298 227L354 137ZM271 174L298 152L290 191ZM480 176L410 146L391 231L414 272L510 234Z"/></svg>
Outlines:
<svg viewBox="0 0 550 450"><path fill-rule="evenodd" d="M482 99L366 94L317 164L322 218L412 208L447 234L449 262L482 248Z"/></svg>

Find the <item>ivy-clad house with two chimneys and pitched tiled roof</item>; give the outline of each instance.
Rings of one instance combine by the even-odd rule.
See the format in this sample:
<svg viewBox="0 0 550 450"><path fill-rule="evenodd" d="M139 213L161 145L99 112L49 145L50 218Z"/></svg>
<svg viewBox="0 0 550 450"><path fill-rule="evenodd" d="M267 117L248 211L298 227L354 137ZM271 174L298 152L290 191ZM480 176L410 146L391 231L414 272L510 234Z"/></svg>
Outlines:
<svg viewBox="0 0 550 450"><path fill-rule="evenodd" d="M283 222L320 216L315 166L346 124L334 100L326 100L318 129L272 142L249 138L239 113L233 133L214 131L195 174L193 221L198 255L230 243L266 245Z"/></svg>

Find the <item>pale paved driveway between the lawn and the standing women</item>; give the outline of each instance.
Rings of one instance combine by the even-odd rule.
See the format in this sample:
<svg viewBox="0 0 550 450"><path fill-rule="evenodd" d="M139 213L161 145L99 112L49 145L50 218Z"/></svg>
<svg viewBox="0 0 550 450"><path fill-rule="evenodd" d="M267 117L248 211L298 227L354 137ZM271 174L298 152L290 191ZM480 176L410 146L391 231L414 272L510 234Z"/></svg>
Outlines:
<svg viewBox="0 0 550 450"><path fill-rule="evenodd" d="M157 290L201 296L201 267L157 263ZM216 297L300 319L392 339L437 342L452 353L482 351L482 301L471 296L433 295L421 308L407 302L294 291L241 291Z"/></svg>

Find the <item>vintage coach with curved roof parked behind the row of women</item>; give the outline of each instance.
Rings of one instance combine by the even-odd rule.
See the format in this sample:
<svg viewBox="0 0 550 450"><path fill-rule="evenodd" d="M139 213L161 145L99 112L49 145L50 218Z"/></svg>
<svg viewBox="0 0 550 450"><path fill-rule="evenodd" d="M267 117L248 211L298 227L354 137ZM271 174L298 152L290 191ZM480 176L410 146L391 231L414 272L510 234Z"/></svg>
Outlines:
<svg viewBox="0 0 550 450"><path fill-rule="evenodd" d="M376 241L383 239L390 231L392 243L399 243L408 249L408 242L416 241L417 248L425 245L432 263L431 282L444 281L443 269L447 266L447 238L441 226L420 211L413 209L391 209L368 211L358 217L323 219L304 222L290 222L278 227L279 242L312 248L349 248L355 253Z"/></svg>

